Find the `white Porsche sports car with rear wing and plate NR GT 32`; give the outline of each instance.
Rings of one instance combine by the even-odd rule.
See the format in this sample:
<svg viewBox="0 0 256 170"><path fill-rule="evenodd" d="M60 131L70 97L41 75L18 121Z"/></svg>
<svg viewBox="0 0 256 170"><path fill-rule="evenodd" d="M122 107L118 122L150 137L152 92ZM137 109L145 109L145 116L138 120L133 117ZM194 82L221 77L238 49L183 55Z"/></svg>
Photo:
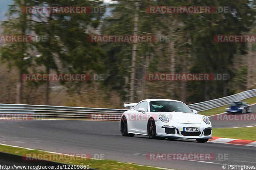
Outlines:
<svg viewBox="0 0 256 170"><path fill-rule="evenodd" d="M148 135L149 138L192 138L197 142L212 139L210 119L197 115L178 100L146 99L139 103L125 104L130 107L120 119L123 136Z"/></svg>

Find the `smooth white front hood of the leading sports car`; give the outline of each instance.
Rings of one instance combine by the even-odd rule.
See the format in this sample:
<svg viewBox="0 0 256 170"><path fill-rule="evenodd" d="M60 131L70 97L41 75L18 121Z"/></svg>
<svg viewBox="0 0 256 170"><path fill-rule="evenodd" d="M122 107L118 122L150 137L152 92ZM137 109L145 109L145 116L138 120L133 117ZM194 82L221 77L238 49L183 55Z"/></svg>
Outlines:
<svg viewBox="0 0 256 170"><path fill-rule="evenodd" d="M182 112L158 112L159 114L166 115L170 121L186 124L201 124L202 119L200 115Z"/></svg>

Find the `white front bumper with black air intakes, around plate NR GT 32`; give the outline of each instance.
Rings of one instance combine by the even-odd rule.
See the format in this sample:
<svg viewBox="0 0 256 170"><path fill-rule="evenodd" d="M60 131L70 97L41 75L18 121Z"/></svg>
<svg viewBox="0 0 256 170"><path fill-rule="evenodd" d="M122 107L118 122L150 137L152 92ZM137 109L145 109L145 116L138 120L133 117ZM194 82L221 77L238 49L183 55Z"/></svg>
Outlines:
<svg viewBox="0 0 256 170"><path fill-rule="evenodd" d="M162 122L156 121L156 136L159 137L173 137L173 138L191 138L191 139L212 139L212 125L201 124L187 124L177 122ZM163 126L171 126L163 128ZM200 132L185 132L183 127L200 128Z"/></svg>

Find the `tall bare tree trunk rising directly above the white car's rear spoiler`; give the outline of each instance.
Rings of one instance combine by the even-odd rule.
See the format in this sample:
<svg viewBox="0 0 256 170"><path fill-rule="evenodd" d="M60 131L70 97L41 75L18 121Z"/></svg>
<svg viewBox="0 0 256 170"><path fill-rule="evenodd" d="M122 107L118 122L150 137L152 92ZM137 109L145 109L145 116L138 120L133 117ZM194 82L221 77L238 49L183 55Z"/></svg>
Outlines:
<svg viewBox="0 0 256 170"><path fill-rule="evenodd" d="M136 3L135 15L134 15L134 36L138 35L138 10L139 10L139 3ZM137 55L137 42L133 43L132 46L132 64L131 64L131 88L130 88L130 102L134 102L134 84L135 84L135 64L136 64L136 55Z"/></svg>

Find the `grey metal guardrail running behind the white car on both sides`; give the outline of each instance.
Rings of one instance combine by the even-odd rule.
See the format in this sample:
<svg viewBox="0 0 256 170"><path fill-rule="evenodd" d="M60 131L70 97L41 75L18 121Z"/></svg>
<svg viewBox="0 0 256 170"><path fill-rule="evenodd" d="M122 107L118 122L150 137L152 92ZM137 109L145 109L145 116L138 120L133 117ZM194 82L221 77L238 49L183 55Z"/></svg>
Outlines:
<svg viewBox="0 0 256 170"><path fill-rule="evenodd" d="M188 105L191 110L198 112L227 105L233 101L244 100L256 96L256 89L240 92L231 96L194 103ZM64 118L89 120L119 120L126 109L65 107L23 104L0 104L1 114L28 115L28 119Z"/></svg>

